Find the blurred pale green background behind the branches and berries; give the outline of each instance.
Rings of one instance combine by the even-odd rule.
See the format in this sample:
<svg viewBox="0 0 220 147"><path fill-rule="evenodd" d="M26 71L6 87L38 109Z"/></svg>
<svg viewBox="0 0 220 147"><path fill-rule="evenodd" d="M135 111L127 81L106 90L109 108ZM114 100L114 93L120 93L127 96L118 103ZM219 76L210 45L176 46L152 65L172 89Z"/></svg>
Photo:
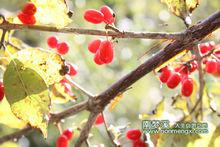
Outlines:
<svg viewBox="0 0 220 147"><path fill-rule="evenodd" d="M0 0L0 12L15 15L25 2L25 0ZM179 32L185 29L182 20L171 14L166 5L160 3L159 0L70 0L68 4L70 10L74 11L71 27L104 29L104 24L92 25L86 22L83 19L83 12L88 8L99 9L102 5L106 4L115 11L117 17L116 27L120 30ZM192 15L193 24L219 9L219 0L202 0ZM113 63L98 66L93 62L93 55L88 52L87 44L95 38L105 39L105 37L58 34L31 30L16 31L14 35L31 46L40 46L45 49L49 49L46 44L46 39L50 35L55 35L59 37L60 40L67 41L71 46L71 50L65 55L65 59L78 66L78 75L75 76L73 80L93 94L102 92L126 73L147 60L153 53L144 56L140 60L138 60L138 58L154 44L159 43L159 40L117 39L118 43L114 43L115 58ZM214 33L211 37L211 39L216 41L219 40L219 38L220 33L218 32ZM159 49L155 49L153 52L158 50ZM212 80L212 78L210 80ZM106 108L105 115L108 124L121 126L131 123L132 128L141 129L141 121L138 119L140 113L149 113L152 111L155 104L157 104L162 97L166 98L166 104L169 107L170 98L180 91L179 88L169 90L166 86L161 87L160 82L153 73L146 75L132 87L132 89L124 94L121 102L112 112L109 112L108 107ZM86 97L79 97L78 101L83 99L86 99ZM59 112L73 104L74 103L70 102L64 105L54 105L53 110ZM167 112L169 113L169 110L167 110ZM64 120L64 123L62 123L62 127L74 127L86 119L87 116L88 113L82 112L67 118ZM174 112L173 115L169 115L170 119L178 119L180 117L181 113L176 112ZM0 136L13 131L15 130L0 125ZM43 139L39 132L32 131L26 136L27 138L23 137L18 143L21 147L55 146L59 131L51 124L48 132L49 137L46 140ZM91 133L93 134L89 139L91 145L101 143L106 146L111 146L104 126L94 127ZM79 132L75 130L72 144L75 142L78 134ZM129 146L129 143L127 143L126 146Z"/></svg>

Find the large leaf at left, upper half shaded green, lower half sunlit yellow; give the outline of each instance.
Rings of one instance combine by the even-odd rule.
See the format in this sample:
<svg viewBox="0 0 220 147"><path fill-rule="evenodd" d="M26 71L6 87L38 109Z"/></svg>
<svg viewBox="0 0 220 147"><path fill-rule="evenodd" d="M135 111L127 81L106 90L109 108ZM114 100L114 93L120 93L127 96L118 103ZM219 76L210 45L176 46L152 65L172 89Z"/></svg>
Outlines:
<svg viewBox="0 0 220 147"><path fill-rule="evenodd" d="M49 91L43 78L18 59L11 60L4 73L5 96L14 115L47 137Z"/></svg>

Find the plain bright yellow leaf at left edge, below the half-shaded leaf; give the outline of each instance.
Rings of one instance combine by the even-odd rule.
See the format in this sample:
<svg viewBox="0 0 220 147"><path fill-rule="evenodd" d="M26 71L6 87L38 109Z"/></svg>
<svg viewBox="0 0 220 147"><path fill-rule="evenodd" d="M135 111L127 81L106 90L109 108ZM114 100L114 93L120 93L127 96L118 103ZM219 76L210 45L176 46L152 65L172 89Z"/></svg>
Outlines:
<svg viewBox="0 0 220 147"><path fill-rule="evenodd" d="M6 98L0 102L0 123L11 128L23 128L26 126L22 120L18 119L11 111L10 105Z"/></svg>

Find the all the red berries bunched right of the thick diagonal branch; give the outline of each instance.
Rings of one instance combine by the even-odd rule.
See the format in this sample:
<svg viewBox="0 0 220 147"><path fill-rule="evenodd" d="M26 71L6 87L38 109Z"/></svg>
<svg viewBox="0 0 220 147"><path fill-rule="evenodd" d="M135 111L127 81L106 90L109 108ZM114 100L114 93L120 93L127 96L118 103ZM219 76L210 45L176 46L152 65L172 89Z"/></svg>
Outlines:
<svg viewBox="0 0 220 147"><path fill-rule="evenodd" d="M215 42L206 42L198 45L198 49L202 55L205 55L215 47ZM213 53L215 58L204 58L205 71L210 74L220 75L220 51ZM194 59L194 55L192 55ZM171 67L164 67L160 70L159 79L162 83L166 83L167 87L174 89L182 83L181 93L183 96L189 97L193 92L193 79L189 76L197 69L197 62L194 60L188 64L180 65L172 69Z"/></svg>

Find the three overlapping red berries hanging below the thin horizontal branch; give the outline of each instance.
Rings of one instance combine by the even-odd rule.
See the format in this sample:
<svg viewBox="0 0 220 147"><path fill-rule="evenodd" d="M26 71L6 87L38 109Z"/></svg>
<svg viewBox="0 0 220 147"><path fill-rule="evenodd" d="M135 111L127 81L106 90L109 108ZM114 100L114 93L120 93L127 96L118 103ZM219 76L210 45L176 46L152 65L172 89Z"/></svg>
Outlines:
<svg viewBox="0 0 220 147"><path fill-rule="evenodd" d="M98 65L109 64L114 58L113 44L109 40L93 40L89 43L88 50L95 54L93 60Z"/></svg>

